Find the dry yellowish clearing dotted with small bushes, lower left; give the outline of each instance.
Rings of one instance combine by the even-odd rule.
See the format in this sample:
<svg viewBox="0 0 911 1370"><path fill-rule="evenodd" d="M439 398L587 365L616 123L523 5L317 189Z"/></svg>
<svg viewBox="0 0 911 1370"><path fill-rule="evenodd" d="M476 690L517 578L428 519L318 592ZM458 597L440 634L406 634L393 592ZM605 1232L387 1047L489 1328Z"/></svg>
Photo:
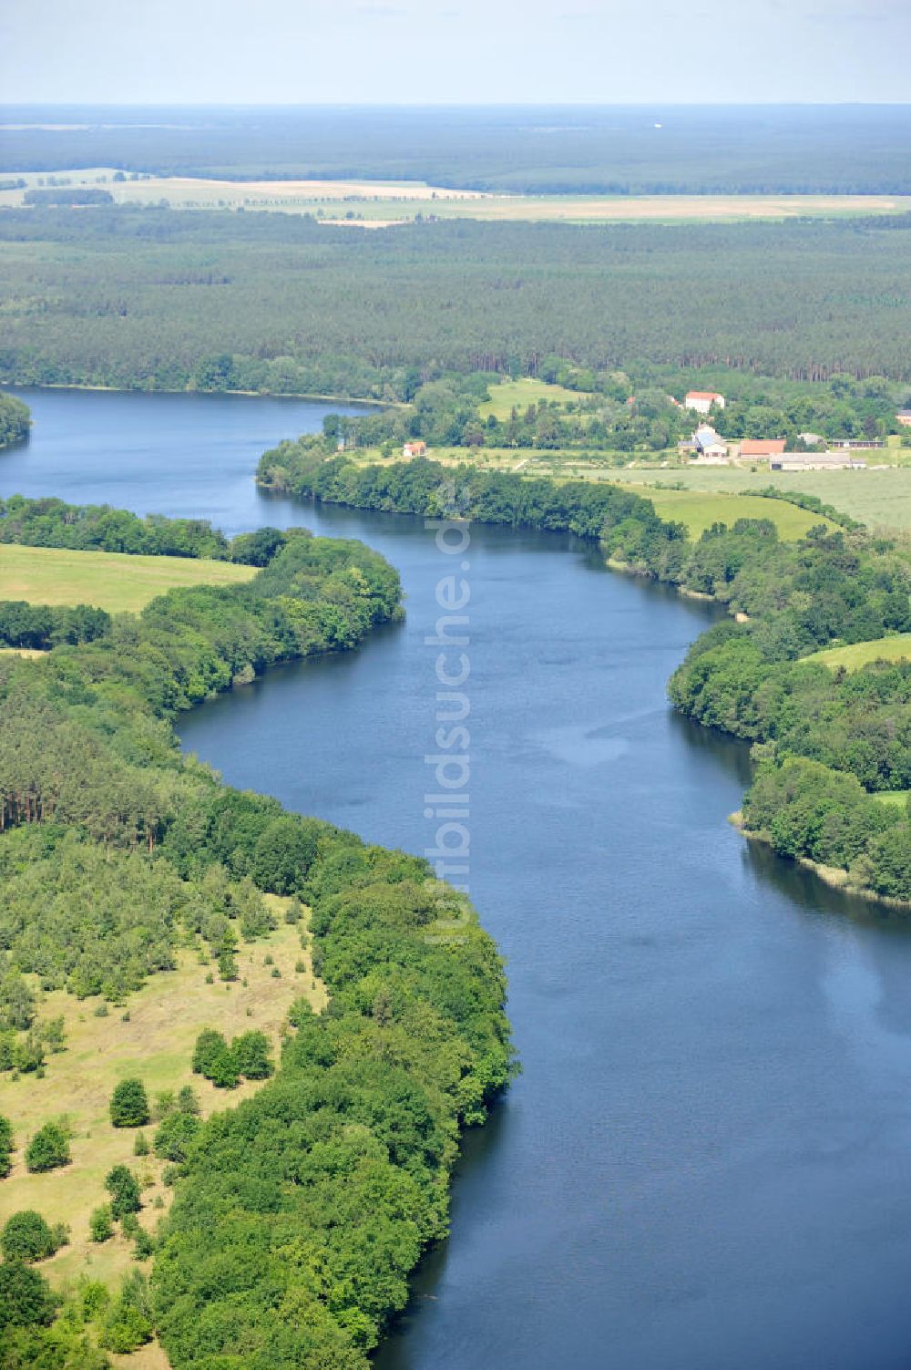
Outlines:
<svg viewBox="0 0 911 1370"><path fill-rule="evenodd" d="M281 917L286 900L266 897ZM264 964L267 954L281 977L274 977L273 967ZM295 970L299 962L303 971ZM281 922L269 937L244 944L238 963L247 985L236 982L227 988L218 980L208 985L211 963L199 964L195 954L184 954L177 970L152 975L130 996L129 1022L123 1022L125 1010L119 1008L97 1018L99 999L77 1000L63 991L45 996L42 1017L64 1018L66 1049L48 1059L42 1080L0 1077L0 1114L10 1118L19 1147L12 1174L0 1184L0 1225L21 1208L37 1208L48 1222L70 1225L71 1244L41 1267L55 1285L67 1286L82 1273L114 1285L134 1266L132 1243L119 1234L101 1245L88 1240L89 1214L107 1201L104 1175L111 1166L125 1163L140 1175L144 1226L153 1229L160 1217L162 1208L153 1207L156 1200L160 1197L164 1206L170 1200L171 1191L160 1181L163 1162L151 1155L134 1156L136 1129L111 1126L108 1100L116 1081L140 1077L149 1099L158 1091L192 1084L204 1115L232 1107L259 1086L247 1082L223 1091L193 1075L190 1059L200 1030L215 1028L230 1037L259 1029L270 1037L277 1056L292 1001L307 996L318 1011L326 1004L325 988L312 977L310 951L301 948L301 933L295 926ZM29 1174L22 1162L23 1144L41 1123L60 1117L66 1117L73 1130L71 1164L48 1174ZM142 1130L151 1143L155 1125Z"/></svg>

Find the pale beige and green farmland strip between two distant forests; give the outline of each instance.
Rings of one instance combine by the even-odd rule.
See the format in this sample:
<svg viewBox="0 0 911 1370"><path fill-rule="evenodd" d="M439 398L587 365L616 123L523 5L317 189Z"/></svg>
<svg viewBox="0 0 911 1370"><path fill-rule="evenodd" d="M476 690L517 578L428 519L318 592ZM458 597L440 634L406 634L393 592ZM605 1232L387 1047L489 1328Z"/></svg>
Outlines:
<svg viewBox="0 0 911 1370"><path fill-rule="evenodd" d="M316 214L329 223L381 227L416 214L503 222L621 223L737 222L799 215L843 218L901 214L911 196L895 195L486 195L426 185L422 181L215 181L149 177L114 182L112 167L64 173L70 182L110 190L118 204L167 200L186 210L279 210ZM27 186L38 173L22 173ZM0 206L22 203L23 190L0 192Z"/></svg>

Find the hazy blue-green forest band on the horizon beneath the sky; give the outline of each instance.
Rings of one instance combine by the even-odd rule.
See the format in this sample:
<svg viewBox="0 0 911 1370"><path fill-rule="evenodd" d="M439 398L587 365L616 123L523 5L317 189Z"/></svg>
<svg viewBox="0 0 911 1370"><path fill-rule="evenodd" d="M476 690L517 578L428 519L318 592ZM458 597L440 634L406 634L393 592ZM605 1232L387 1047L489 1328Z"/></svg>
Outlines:
<svg viewBox="0 0 911 1370"><path fill-rule="evenodd" d="M0 171L530 193L910 193L907 105L7 107Z"/></svg>

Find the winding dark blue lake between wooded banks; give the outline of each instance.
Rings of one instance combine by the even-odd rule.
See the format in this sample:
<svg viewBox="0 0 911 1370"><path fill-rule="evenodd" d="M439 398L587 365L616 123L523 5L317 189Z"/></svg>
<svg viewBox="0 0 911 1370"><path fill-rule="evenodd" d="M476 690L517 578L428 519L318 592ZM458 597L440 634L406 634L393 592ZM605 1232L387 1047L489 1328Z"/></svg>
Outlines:
<svg viewBox="0 0 911 1370"><path fill-rule="evenodd" d="M907 1370L911 930L727 825L745 752L664 693L711 608L570 537L473 527L451 553L418 519L259 495L260 451L327 406L21 393L0 495L305 523L401 571L404 623L182 721L232 784L436 845L427 638L441 578L467 582L467 881L523 1074L466 1140L379 1370Z"/></svg>

